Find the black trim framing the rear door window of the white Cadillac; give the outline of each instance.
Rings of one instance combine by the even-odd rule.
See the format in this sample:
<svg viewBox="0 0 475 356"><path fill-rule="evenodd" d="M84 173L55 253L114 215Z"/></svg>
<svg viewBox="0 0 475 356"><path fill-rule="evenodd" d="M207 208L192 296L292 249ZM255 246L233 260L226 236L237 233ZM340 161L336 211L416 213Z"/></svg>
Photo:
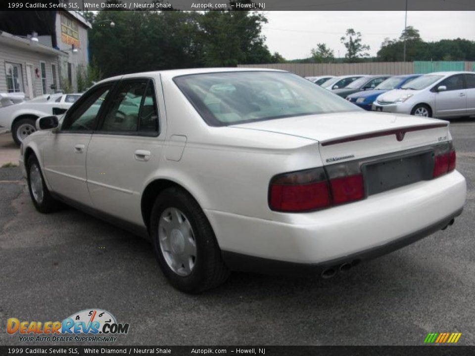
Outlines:
<svg viewBox="0 0 475 356"><path fill-rule="evenodd" d="M141 104L140 104L141 106L139 108L138 120L140 120L140 114L142 112L142 101L145 97L146 89L148 89L149 83L152 82L153 83L153 88L154 88L154 95L155 95L155 98L153 100L153 104L155 105L155 110L157 112L157 131L155 131L155 132L139 132L139 123L137 123L137 130L136 131L102 131L100 129L103 127L104 121L105 121L105 114L104 114L104 112L102 112L101 113L102 115L99 117L99 120L97 122L95 130L93 131L93 134L119 135L119 136L145 136L145 137L158 137L160 135L161 125L160 125L160 113L158 111L158 100L156 98L156 95L157 95L157 91L155 89L156 84L155 84L155 80L151 77L135 77L135 78L120 79L117 82L116 86L114 87L114 90L110 92L110 94L111 94L110 98L111 99L108 100L109 103L106 107L107 111L105 111L105 113L108 112L109 106L112 103L112 98L117 94L117 90L119 89L120 85L123 82L141 82L141 81L147 81L147 86L145 87L145 91L142 95L142 100L141 100Z"/></svg>

